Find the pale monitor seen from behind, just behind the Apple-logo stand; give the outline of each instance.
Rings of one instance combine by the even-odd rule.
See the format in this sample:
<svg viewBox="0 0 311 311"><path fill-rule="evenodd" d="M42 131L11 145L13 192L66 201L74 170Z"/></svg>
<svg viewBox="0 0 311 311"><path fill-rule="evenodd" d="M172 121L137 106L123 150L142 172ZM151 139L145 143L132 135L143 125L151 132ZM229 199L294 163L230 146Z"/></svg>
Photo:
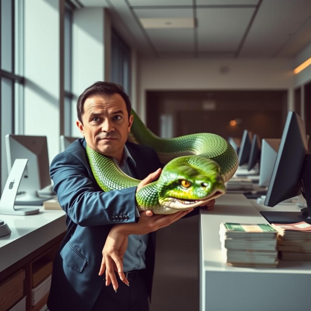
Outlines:
<svg viewBox="0 0 311 311"><path fill-rule="evenodd" d="M51 184L46 136L6 135L7 168L11 171L16 159L28 159L16 205L42 205L50 197L39 197L38 190Z"/></svg>

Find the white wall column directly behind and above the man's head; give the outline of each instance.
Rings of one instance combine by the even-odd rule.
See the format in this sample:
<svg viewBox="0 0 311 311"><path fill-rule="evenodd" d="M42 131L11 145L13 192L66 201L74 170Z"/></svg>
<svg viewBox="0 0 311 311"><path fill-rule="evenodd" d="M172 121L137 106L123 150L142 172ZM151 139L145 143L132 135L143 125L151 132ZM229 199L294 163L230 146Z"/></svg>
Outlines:
<svg viewBox="0 0 311 311"><path fill-rule="evenodd" d="M72 136L81 137L76 126L77 99L96 81L110 80L111 20L103 7L73 11L72 27Z"/></svg>

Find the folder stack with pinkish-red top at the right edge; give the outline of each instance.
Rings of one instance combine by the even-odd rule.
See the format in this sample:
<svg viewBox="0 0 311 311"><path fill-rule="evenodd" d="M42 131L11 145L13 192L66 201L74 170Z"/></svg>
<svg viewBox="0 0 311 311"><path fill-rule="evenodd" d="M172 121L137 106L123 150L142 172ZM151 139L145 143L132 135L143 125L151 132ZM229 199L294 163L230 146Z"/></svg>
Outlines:
<svg viewBox="0 0 311 311"><path fill-rule="evenodd" d="M311 225L301 221L294 224L272 224L278 232L278 250L282 260L311 260Z"/></svg>

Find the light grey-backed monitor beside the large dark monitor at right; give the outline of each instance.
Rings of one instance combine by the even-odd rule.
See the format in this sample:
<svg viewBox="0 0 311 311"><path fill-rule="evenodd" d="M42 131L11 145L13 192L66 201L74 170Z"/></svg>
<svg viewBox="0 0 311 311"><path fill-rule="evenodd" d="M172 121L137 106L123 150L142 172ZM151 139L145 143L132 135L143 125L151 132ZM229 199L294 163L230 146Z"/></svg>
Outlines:
<svg viewBox="0 0 311 311"><path fill-rule="evenodd" d="M265 138L262 140L258 182L261 187L269 186L280 142L281 139L279 138Z"/></svg>

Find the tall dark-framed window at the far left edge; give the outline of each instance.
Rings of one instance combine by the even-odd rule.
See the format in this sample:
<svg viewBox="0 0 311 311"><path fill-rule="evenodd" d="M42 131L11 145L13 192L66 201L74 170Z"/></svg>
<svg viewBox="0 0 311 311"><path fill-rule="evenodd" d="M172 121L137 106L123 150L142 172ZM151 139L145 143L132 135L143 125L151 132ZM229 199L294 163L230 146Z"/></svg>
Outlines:
<svg viewBox="0 0 311 311"><path fill-rule="evenodd" d="M23 133L23 0L0 0L0 189L7 180L5 136Z"/></svg>

